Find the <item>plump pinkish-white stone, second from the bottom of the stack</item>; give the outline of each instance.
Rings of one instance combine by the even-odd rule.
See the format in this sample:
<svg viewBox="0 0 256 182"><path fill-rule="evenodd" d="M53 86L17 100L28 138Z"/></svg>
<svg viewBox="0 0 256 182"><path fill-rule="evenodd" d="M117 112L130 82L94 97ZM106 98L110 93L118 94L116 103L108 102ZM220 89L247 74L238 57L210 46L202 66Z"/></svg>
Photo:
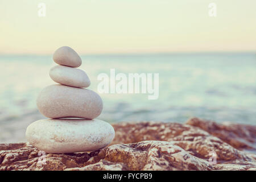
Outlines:
<svg viewBox="0 0 256 182"><path fill-rule="evenodd" d="M94 119L101 114L101 97L92 90L65 85L44 88L36 100L40 113L48 118Z"/></svg>

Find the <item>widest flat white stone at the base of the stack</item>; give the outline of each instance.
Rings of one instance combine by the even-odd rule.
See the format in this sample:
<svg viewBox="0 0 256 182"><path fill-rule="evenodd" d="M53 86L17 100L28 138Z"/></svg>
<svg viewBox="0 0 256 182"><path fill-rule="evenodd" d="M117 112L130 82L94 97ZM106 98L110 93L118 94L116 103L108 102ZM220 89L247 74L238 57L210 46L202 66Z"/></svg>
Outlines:
<svg viewBox="0 0 256 182"><path fill-rule="evenodd" d="M48 153L94 151L112 142L113 127L100 119L41 119L31 123L26 138Z"/></svg>

